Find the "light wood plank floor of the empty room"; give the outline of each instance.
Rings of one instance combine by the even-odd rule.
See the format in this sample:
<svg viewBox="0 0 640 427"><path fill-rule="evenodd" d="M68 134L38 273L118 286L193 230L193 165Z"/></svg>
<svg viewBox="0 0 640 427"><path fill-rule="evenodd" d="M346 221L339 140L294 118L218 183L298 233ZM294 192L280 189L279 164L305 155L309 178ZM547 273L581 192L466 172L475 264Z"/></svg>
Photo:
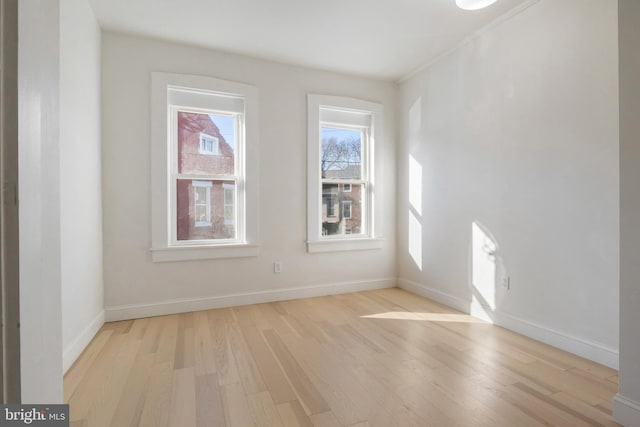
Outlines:
<svg viewBox="0 0 640 427"><path fill-rule="evenodd" d="M617 425L617 372L399 289L105 324L71 425Z"/></svg>

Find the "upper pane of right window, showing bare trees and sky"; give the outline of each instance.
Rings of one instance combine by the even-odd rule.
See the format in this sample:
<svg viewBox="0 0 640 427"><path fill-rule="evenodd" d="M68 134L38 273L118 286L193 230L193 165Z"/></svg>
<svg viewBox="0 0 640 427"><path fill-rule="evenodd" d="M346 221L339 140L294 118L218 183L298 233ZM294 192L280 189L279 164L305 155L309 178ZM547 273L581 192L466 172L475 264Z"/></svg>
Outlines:
<svg viewBox="0 0 640 427"><path fill-rule="evenodd" d="M323 126L321 133L322 178L361 179L362 132Z"/></svg>

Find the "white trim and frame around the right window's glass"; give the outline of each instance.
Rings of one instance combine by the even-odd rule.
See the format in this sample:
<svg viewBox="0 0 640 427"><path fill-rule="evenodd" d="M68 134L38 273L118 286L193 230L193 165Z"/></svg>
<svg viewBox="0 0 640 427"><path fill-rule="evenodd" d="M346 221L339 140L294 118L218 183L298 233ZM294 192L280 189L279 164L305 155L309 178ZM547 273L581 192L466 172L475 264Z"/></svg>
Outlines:
<svg viewBox="0 0 640 427"><path fill-rule="evenodd" d="M309 253L334 252L380 249L383 246L383 238L379 234L376 220L382 218L382 207L378 206L375 199L375 148L380 144L383 135L383 107L381 104L361 101L353 98L344 98L328 95L307 96L308 104L308 137L307 137L307 251ZM335 122L339 124L351 124L354 126L368 127L368 181L366 194L367 206L363 212L363 221L366 221L368 234L351 234L341 236L322 236L322 179L320 171L321 134L320 122ZM331 113L335 112L335 119ZM341 112L356 113L361 116L361 123L345 123Z"/></svg>

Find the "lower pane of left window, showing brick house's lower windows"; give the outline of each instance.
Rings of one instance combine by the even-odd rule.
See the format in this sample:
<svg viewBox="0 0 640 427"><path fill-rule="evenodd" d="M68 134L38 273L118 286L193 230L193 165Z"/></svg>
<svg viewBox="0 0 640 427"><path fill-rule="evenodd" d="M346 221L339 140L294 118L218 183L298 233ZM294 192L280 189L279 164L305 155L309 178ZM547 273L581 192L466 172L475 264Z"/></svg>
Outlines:
<svg viewBox="0 0 640 427"><path fill-rule="evenodd" d="M178 179L178 240L234 239L235 182Z"/></svg>

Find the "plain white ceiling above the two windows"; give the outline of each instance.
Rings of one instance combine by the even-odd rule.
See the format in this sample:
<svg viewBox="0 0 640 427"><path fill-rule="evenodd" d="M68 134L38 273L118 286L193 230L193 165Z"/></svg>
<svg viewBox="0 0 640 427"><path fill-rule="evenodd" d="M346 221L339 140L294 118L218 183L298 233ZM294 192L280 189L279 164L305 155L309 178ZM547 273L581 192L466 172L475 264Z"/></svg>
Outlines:
<svg viewBox="0 0 640 427"><path fill-rule="evenodd" d="M530 0L90 0L103 29L398 80Z"/></svg>

